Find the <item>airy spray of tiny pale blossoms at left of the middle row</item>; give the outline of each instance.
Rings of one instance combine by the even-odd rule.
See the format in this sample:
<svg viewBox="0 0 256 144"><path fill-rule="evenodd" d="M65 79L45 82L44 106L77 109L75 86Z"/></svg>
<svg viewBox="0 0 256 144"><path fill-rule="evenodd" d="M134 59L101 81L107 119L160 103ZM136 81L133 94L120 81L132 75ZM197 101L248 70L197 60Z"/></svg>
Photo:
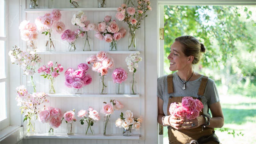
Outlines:
<svg viewBox="0 0 256 144"><path fill-rule="evenodd" d="M42 62L42 59L36 52L22 52L19 47L15 46L14 50L9 53L12 64L17 64L23 69L25 75L33 76L35 69Z"/></svg>

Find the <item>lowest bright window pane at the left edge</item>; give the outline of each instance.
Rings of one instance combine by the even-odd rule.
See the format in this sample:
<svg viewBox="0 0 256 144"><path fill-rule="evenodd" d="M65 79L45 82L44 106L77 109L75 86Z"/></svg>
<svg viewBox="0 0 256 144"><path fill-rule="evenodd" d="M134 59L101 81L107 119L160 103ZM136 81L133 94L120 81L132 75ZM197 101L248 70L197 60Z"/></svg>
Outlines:
<svg viewBox="0 0 256 144"><path fill-rule="evenodd" d="M0 83L0 121L6 117L6 84L5 82Z"/></svg>

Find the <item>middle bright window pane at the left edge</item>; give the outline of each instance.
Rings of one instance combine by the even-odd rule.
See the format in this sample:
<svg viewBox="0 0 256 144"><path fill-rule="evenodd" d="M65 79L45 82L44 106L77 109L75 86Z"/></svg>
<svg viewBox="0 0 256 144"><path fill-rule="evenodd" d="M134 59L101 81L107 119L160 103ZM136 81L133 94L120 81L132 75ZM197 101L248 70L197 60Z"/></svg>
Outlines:
<svg viewBox="0 0 256 144"><path fill-rule="evenodd" d="M5 77L5 41L0 41L0 78Z"/></svg>

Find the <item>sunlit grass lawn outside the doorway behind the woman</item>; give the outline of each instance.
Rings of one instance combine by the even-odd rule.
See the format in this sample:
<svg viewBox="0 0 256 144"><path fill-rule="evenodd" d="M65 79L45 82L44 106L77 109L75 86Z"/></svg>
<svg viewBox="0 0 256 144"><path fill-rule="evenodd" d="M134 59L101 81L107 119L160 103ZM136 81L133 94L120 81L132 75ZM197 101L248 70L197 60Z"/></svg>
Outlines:
<svg viewBox="0 0 256 144"><path fill-rule="evenodd" d="M235 135L228 132L220 132L216 129L216 134L222 144L256 143L256 98L243 97L240 95L220 95L220 103L225 118L225 124L222 127L227 128L228 132L244 134ZM167 127L164 129L164 143L168 143Z"/></svg>

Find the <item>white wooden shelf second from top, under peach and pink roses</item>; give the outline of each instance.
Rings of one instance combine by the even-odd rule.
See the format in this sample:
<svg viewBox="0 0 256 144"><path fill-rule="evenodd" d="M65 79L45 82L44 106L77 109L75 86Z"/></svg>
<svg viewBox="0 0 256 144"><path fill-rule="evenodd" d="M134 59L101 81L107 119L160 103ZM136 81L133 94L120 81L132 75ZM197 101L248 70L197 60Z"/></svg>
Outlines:
<svg viewBox="0 0 256 144"><path fill-rule="evenodd" d="M37 54L97 54L100 51L36 52ZM106 51L109 54L131 54L139 51Z"/></svg>

